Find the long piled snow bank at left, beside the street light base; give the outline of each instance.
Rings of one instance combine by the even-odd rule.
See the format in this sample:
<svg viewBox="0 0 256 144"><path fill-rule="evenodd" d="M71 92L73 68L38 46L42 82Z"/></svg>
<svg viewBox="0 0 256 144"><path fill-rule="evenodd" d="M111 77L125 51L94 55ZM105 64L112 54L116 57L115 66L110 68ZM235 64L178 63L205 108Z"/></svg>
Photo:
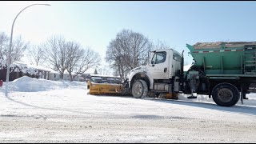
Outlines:
<svg viewBox="0 0 256 144"><path fill-rule="evenodd" d="M15 79L13 82L8 82L8 90L16 92L37 92L37 91L48 91L48 90L59 90L66 88L85 88L86 82L61 82L61 81L50 81L46 79L37 79L23 76L22 78ZM6 82L3 83L0 91L4 92Z"/></svg>

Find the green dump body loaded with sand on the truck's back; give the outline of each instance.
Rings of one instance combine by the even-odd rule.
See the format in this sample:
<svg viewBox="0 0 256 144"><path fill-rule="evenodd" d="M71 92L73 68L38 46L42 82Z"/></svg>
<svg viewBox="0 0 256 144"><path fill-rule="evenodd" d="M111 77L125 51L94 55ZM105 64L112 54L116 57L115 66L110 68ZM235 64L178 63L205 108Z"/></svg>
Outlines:
<svg viewBox="0 0 256 144"><path fill-rule="evenodd" d="M198 42L186 44L194 66L205 74L255 74L256 42Z"/></svg>

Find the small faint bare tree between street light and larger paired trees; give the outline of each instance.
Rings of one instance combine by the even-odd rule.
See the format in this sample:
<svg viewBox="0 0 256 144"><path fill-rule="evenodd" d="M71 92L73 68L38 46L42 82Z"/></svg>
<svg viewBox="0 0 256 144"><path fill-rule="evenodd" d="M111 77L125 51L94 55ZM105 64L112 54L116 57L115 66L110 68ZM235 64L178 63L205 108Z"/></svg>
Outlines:
<svg viewBox="0 0 256 144"><path fill-rule="evenodd" d="M44 65L46 62L45 50L43 46L31 46L28 50L27 58L31 65Z"/></svg>

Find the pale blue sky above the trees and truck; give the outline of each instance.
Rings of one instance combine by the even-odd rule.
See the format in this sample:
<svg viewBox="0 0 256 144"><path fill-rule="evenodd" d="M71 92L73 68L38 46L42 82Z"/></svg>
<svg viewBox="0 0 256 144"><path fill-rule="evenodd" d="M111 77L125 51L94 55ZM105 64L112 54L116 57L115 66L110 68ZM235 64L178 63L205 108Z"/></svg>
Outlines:
<svg viewBox="0 0 256 144"><path fill-rule="evenodd" d="M186 43L219 41L255 41L256 2L73 2L32 1L0 2L0 32L10 35L18 12L14 37L38 45L54 34L90 46L104 57L106 46L122 29L134 30L151 40L162 40L182 52Z"/></svg>

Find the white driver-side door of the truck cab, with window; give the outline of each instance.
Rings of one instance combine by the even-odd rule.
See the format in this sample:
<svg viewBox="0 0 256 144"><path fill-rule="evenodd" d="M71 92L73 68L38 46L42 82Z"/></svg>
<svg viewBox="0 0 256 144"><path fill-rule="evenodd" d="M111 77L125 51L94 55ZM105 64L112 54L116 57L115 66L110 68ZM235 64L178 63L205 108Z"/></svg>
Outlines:
<svg viewBox="0 0 256 144"><path fill-rule="evenodd" d="M147 73L154 79L168 79L169 78L169 59L170 54L168 50L156 51L153 56L150 57L150 66Z"/></svg>

